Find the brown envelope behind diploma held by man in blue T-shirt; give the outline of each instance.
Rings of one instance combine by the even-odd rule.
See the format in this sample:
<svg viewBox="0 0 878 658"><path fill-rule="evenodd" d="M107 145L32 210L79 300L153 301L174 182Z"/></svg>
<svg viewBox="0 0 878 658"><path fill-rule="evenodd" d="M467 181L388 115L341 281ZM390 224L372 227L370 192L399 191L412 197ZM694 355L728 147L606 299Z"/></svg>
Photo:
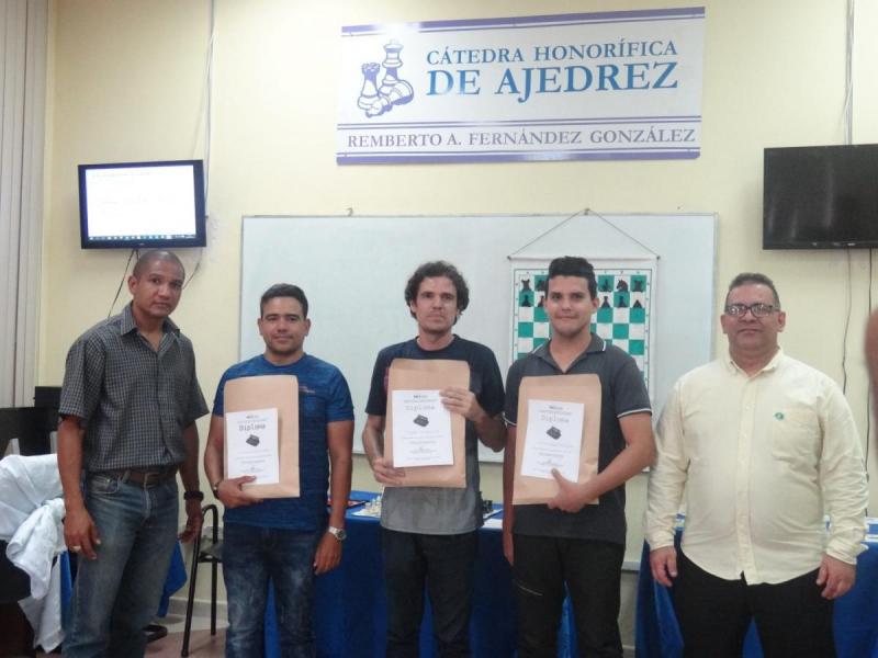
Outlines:
<svg viewBox="0 0 878 658"><path fill-rule="evenodd" d="M238 377L226 382L225 411L278 409L280 483L245 485L252 498L299 497L299 381L293 375ZM224 467L228 473L228 441L224 441Z"/></svg>

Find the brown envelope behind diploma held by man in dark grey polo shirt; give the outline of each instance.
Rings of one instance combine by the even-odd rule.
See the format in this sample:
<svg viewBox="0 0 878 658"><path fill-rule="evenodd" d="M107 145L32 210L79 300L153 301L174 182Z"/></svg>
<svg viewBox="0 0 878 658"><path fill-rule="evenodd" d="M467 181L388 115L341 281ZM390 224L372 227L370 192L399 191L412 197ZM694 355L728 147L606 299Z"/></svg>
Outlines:
<svg viewBox="0 0 878 658"><path fill-rule="evenodd" d="M524 377L518 389L518 423L516 424L514 504L548 502L558 494L554 478L543 479L521 475L521 462L527 440L529 401L552 400L579 402L585 406L583 443L579 449L579 477L584 483L597 474L598 441L600 438L600 379L597 375L555 375ZM594 501L597 504L597 501Z"/></svg>

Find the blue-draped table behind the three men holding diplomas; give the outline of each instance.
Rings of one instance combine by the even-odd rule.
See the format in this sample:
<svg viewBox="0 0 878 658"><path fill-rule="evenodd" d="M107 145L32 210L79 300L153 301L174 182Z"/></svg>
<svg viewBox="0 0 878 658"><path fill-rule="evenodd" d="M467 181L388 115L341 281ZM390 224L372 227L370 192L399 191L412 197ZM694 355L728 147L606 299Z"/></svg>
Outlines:
<svg viewBox="0 0 878 658"><path fill-rule="evenodd" d="M352 491L352 500L370 500L376 495ZM348 510L348 538L341 565L317 577L314 624L317 655L322 658L374 658L384 656L386 599L381 561L380 523L375 518L358 517L361 508ZM511 569L503 556L498 527L479 531L475 564L475 592L470 621L470 644L474 657L500 658L515 655L516 622ZM559 656L576 655L572 612L565 602L559 632ZM426 602L420 628L420 655L435 656L432 615ZM280 656L273 599L266 609L266 656Z"/></svg>

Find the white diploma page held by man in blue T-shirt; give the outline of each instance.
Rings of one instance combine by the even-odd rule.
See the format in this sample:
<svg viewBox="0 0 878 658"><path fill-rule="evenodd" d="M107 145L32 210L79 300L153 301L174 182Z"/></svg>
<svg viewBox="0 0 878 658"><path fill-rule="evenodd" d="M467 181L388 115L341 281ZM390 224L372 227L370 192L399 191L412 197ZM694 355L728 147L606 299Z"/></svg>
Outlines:
<svg viewBox="0 0 878 658"><path fill-rule="evenodd" d="M278 409L226 413L226 477L254 475L255 485L280 483Z"/></svg>

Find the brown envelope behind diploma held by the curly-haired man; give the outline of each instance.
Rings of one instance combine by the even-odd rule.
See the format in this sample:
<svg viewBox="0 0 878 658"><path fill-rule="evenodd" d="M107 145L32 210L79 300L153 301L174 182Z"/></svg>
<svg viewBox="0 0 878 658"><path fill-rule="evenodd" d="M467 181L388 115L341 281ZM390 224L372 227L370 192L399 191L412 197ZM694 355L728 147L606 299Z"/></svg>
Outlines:
<svg viewBox="0 0 878 658"><path fill-rule="evenodd" d="M394 390L441 390L450 386L470 388L470 365L448 359L394 359L387 381L387 416L384 419L384 457L393 463ZM406 466L402 487L466 487L466 420L451 415L454 463L448 466ZM391 485L386 485L391 486Z"/></svg>

